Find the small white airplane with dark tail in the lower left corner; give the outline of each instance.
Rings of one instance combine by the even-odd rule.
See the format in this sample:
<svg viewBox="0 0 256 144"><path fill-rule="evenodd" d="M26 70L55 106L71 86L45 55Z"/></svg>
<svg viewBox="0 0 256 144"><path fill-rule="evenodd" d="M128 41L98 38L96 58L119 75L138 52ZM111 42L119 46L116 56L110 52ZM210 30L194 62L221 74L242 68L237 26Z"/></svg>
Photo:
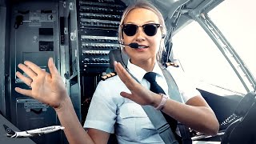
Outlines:
<svg viewBox="0 0 256 144"><path fill-rule="evenodd" d="M11 130L10 127L6 125L3 125L3 126L6 129L7 137L10 137L10 138L26 138L26 137L41 136L42 134L49 134L57 130L65 129L65 127L63 126L48 126L48 127L42 127L39 129L18 132L18 131Z"/></svg>

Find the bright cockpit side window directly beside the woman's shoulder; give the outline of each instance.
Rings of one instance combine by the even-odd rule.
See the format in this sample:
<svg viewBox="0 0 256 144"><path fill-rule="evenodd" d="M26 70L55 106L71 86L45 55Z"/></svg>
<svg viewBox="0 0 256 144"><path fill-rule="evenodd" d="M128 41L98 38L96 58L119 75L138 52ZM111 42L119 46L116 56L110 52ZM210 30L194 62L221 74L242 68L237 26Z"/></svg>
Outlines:
<svg viewBox="0 0 256 144"><path fill-rule="evenodd" d="M198 22L191 22L178 31L173 43L174 59L178 59L190 78L246 94L229 62Z"/></svg>

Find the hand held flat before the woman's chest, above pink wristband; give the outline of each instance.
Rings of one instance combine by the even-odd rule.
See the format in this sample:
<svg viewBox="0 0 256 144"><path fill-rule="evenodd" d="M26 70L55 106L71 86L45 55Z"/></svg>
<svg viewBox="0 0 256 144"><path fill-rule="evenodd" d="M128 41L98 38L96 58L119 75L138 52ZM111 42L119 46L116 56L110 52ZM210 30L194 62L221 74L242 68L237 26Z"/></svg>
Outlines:
<svg viewBox="0 0 256 144"><path fill-rule="evenodd" d="M126 87L130 90L131 94L126 92L121 92L120 95L124 98L129 98L130 100L138 103L139 105L150 105L157 106L159 103L158 99L161 97L159 94L155 94L154 92L147 90L140 83L136 82L134 78L127 73L127 71L122 67L119 62L114 62L114 70L117 72L119 78L126 85ZM161 101L161 99L160 99Z"/></svg>

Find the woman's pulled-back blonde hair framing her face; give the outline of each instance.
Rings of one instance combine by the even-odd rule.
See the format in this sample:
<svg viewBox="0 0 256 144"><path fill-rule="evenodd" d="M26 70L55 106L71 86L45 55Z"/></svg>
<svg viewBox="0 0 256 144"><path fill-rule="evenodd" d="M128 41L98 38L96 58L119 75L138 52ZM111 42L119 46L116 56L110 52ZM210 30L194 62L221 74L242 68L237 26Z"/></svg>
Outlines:
<svg viewBox="0 0 256 144"><path fill-rule="evenodd" d="M166 47L165 47L165 38L166 38L166 33L167 33L166 24L165 24L164 18L162 17L161 12L155 6L150 4L149 2L146 2L144 0L139 0L139 1L135 2L133 5L128 6L126 8L126 10L124 10L124 12L122 14L122 19L121 19L121 22L120 22L120 26L118 28L118 42L123 43L121 26L123 25L124 20L126 19L126 16L129 14L129 12L131 10L134 10L136 8L143 8L143 9L146 9L146 10L151 10L152 12L154 12L154 14L158 15L159 23L161 25L160 28L162 30L162 40L161 40L160 47L159 47L159 50L158 50L158 54L156 55L156 58L157 58L158 62L161 62L162 52L166 50ZM124 46L120 45L120 47L123 50Z"/></svg>

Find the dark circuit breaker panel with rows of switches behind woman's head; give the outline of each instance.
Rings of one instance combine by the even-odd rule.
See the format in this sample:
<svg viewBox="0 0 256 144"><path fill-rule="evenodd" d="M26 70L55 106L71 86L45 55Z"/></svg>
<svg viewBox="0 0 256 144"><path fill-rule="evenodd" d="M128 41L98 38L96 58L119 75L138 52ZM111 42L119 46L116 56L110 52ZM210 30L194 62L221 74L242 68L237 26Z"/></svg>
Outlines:
<svg viewBox="0 0 256 144"><path fill-rule="evenodd" d="M109 64L110 50L119 49L118 26L125 5L114 0L78 1L80 70L101 73Z"/></svg>

